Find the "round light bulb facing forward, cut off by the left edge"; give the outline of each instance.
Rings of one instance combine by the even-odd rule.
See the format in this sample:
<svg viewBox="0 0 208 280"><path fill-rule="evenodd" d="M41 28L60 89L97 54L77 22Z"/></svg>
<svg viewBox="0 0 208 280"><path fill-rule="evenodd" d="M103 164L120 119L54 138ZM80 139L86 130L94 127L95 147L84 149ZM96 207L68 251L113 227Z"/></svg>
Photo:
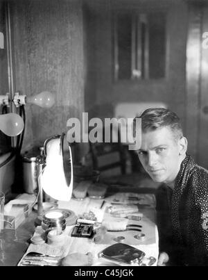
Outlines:
<svg viewBox="0 0 208 280"><path fill-rule="evenodd" d="M24 121L15 113L0 115L0 130L8 136L17 136L24 129Z"/></svg>

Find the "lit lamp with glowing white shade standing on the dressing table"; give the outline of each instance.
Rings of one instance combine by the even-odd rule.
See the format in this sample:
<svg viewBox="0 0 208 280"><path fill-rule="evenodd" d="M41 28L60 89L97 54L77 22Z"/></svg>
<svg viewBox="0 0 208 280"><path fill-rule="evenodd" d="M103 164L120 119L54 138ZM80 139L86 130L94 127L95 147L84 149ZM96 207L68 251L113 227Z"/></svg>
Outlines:
<svg viewBox="0 0 208 280"><path fill-rule="evenodd" d="M37 168L39 170L39 199L37 200L39 220L41 220L41 215L44 211L42 190L55 200L69 201L71 199L73 162L69 144L69 149L64 149L64 139L64 133L62 133L62 135L54 135L44 142L44 164L42 160L39 160L43 168Z"/></svg>

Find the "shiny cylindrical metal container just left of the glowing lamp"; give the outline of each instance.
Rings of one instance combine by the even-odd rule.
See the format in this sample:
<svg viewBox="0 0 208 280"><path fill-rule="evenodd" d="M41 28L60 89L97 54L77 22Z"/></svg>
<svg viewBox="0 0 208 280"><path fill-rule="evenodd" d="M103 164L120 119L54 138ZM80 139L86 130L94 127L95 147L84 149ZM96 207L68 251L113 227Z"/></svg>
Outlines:
<svg viewBox="0 0 208 280"><path fill-rule="evenodd" d="M24 192L33 194L37 189L37 167L34 153L28 153L22 157L22 167Z"/></svg>

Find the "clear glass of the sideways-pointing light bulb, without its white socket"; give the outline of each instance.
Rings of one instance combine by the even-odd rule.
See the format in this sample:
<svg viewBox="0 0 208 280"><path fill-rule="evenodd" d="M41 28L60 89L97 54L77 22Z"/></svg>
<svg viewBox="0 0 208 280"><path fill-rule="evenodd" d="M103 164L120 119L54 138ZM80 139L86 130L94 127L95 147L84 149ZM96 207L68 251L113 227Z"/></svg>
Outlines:
<svg viewBox="0 0 208 280"><path fill-rule="evenodd" d="M55 98L51 92L40 92L33 97L26 97L26 103L35 104L42 108L51 108L55 104Z"/></svg>

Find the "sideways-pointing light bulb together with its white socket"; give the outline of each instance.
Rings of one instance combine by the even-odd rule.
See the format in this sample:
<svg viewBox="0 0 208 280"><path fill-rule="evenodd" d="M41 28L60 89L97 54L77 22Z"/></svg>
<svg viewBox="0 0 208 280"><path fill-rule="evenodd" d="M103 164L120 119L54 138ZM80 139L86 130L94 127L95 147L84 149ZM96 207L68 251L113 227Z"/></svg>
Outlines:
<svg viewBox="0 0 208 280"><path fill-rule="evenodd" d="M16 107L26 104L35 104L42 108L51 108L55 104L55 97L51 92L44 91L39 94L27 97L26 95L20 95L19 92L15 92L13 102Z"/></svg>

